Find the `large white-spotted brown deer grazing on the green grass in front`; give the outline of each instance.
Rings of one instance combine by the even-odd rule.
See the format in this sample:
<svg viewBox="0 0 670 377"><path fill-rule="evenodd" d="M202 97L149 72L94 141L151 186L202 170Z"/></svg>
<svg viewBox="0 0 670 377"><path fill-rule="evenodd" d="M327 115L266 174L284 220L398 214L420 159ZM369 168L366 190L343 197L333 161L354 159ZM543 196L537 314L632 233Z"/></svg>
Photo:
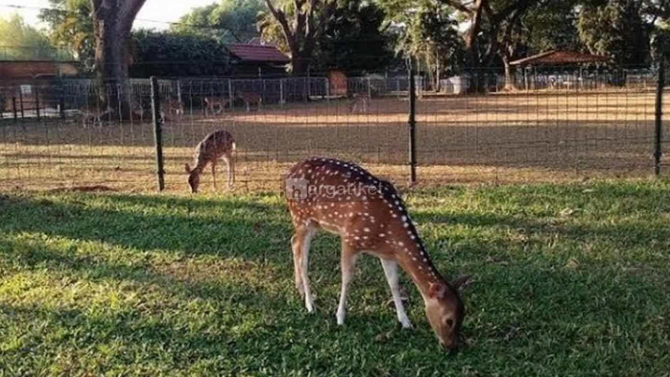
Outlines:
<svg viewBox="0 0 670 377"><path fill-rule="evenodd" d="M421 292L425 313L444 349L458 345L464 306L460 289L470 276L444 280L431 262L403 200L393 187L360 166L328 158L312 158L285 176L285 194L295 233L291 237L295 286L308 312L314 299L308 278L310 242L319 228L340 236L342 290L337 323L344 324L348 284L356 258L377 256L391 288L398 321L411 328L400 294L400 265Z"/></svg>

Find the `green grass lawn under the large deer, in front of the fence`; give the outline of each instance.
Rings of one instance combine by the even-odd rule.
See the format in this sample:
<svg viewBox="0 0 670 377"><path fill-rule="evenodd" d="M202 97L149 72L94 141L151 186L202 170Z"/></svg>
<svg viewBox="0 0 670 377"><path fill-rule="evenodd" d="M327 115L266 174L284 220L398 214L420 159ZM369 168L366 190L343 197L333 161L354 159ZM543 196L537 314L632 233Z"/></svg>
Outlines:
<svg viewBox="0 0 670 377"><path fill-rule="evenodd" d="M441 352L379 262L335 311L339 241L293 286L281 196L0 195L0 376L667 376L670 183L407 195L443 274L472 273L468 346Z"/></svg>

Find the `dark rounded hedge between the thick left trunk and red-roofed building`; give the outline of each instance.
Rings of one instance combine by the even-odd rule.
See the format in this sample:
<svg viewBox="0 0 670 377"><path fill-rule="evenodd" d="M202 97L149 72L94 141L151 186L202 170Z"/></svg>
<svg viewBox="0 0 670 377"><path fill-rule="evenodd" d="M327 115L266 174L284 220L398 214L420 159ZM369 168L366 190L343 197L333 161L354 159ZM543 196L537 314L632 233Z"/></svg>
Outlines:
<svg viewBox="0 0 670 377"><path fill-rule="evenodd" d="M136 30L133 46L132 77L222 76L228 73L226 48L207 36Z"/></svg>

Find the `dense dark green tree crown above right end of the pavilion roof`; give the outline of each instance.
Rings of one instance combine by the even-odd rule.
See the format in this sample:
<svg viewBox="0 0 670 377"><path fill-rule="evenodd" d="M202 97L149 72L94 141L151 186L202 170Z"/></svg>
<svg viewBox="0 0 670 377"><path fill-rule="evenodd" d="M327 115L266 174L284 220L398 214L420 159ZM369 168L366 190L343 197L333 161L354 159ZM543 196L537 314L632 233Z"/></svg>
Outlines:
<svg viewBox="0 0 670 377"><path fill-rule="evenodd" d="M599 4L600 3L600 4ZM649 62L649 32L638 1L609 0L582 7L577 27L593 54L610 56L620 67Z"/></svg>

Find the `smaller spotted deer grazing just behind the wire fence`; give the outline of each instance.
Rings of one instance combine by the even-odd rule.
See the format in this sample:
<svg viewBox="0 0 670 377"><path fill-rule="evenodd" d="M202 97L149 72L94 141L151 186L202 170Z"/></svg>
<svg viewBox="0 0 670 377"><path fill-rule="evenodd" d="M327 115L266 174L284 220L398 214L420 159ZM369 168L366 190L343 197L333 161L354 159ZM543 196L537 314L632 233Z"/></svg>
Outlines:
<svg viewBox="0 0 670 377"><path fill-rule="evenodd" d="M190 186L191 193L198 192L200 174L207 164L212 164L212 180L214 189L216 189L216 163L219 158L223 158L228 166L228 188L230 189L235 183L233 152L235 152L235 139L225 129L219 129L205 136L196 147L194 168L191 168L188 163L184 166L188 174L188 186Z"/></svg>

